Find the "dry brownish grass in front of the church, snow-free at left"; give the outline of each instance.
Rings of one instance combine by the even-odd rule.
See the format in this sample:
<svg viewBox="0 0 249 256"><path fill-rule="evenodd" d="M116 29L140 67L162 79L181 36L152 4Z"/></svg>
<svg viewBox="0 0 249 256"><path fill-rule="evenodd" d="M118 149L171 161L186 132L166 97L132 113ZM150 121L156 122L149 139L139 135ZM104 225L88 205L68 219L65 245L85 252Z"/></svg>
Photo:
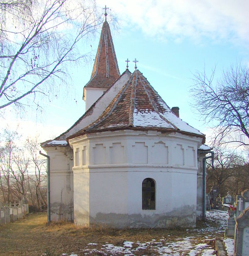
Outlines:
<svg viewBox="0 0 249 256"><path fill-rule="evenodd" d="M186 229L87 229L68 222L48 225L46 213L37 213L15 223L0 226L0 255L41 256L46 250L51 255L62 253L70 255L71 252L83 255L81 250L89 243L97 243L101 246L107 242L121 246L124 241L145 242L152 239L159 241L163 236L168 235L170 240L174 240L189 236L190 233L191 231L187 233ZM143 251L142 254L144 253ZM148 252L149 254L152 252Z"/></svg>

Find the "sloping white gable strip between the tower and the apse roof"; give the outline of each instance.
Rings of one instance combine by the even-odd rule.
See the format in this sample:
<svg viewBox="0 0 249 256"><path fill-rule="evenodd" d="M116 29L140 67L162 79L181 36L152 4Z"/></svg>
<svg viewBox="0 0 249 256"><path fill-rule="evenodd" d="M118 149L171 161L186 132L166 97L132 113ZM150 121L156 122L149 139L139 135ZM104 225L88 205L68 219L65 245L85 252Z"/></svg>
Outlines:
<svg viewBox="0 0 249 256"><path fill-rule="evenodd" d="M79 130L83 129L84 127L88 126L92 122L94 122L98 117L103 113L103 111L107 108L107 106L110 104L112 99L117 95L117 93L120 91L120 89L125 85L127 80L129 79L130 75L127 73L123 74L112 87L110 87L109 91L101 97L98 102L95 103L95 106L92 109L92 113L86 115L78 124L76 124L73 128L71 128L68 132L63 134L60 139L66 139L70 135L78 132ZM93 93L93 92L91 92ZM103 89L102 93L100 96L103 94ZM98 98L97 98L98 99ZM97 100L96 99L96 100ZM96 101L95 100L95 101ZM95 102L94 101L94 102ZM93 102L93 103L94 103ZM93 104L92 103L92 104ZM90 104L90 103L89 103ZM91 105L92 105L91 104ZM91 106L90 105L90 106Z"/></svg>

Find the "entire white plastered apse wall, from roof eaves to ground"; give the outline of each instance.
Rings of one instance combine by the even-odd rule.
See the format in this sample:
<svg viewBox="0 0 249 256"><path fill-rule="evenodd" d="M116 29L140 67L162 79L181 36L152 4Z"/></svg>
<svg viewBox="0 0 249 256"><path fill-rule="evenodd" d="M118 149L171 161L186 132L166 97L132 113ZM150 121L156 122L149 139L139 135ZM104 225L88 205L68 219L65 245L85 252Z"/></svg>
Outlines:
<svg viewBox="0 0 249 256"><path fill-rule="evenodd" d="M76 187L80 185L74 184L74 193L81 194L79 198L87 191L89 200L85 209L89 211L89 219L76 217L75 222L115 227L194 226L197 148L201 140L179 133L130 130L71 139L74 152L80 152L74 174L77 177L89 174L84 189L78 191ZM84 150L88 156L86 162L81 159ZM155 210L142 210L142 181L146 178L156 181ZM80 180L74 179L76 183ZM76 195L74 198L74 208L79 209L81 202Z"/></svg>

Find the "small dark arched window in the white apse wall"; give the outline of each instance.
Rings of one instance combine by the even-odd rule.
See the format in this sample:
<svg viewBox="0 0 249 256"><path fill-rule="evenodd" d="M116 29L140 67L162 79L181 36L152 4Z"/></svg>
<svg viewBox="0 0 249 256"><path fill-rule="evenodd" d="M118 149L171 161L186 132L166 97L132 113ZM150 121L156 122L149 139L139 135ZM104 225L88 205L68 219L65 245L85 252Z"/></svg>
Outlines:
<svg viewBox="0 0 249 256"><path fill-rule="evenodd" d="M143 180L142 184L142 209L156 209L156 186L155 181L151 178Z"/></svg>

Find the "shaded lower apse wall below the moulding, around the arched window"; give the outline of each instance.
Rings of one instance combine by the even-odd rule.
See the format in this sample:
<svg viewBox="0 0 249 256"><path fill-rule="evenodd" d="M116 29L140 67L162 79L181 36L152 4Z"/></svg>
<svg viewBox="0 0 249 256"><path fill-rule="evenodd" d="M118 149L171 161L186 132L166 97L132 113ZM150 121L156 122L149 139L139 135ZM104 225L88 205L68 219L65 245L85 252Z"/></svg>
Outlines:
<svg viewBox="0 0 249 256"><path fill-rule="evenodd" d="M193 187L196 184L196 171L183 174L182 170L179 172L175 169L143 168L137 171L138 168L122 168L122 171L97 168L90 172L90 225L194 226L196 191ZM142 181L146 178L156 182L155 210L142 209Z"/></svg>

